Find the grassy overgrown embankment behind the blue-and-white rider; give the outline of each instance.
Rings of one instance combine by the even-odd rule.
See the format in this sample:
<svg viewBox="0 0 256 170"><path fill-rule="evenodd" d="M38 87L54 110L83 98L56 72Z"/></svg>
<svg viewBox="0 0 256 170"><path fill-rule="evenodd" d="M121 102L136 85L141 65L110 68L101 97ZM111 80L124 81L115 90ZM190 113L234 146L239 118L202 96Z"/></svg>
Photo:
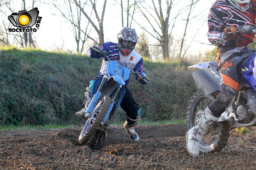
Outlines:
<svg viewBox="0 0 256 170"><path fill-rule="evenodd" d="M185 118L196 91L190 65L181 61L144 59L150 82L139 84L132 75L129 89L142 107L142 119ZM1 47L0 125L79 124L84 91L97 75L101 60L63 52ZM114 121L124 121L120 109Z"/></svg>

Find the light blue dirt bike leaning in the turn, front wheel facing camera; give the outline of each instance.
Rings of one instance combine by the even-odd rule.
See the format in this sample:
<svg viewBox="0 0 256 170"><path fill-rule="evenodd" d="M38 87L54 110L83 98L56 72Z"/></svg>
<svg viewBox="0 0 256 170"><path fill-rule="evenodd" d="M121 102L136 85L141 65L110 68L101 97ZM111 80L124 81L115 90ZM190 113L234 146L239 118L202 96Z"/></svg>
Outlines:
<svg viewBox="0 0 256 170"><path fill-rule="evenodd" d="M118 60L110 60L106 51L95 49L109 61L107 72L102 79L96 79L93 84L92 94L86 114L90 118L86 120L84 128L79 136L80 144L87 144L91 149L99 148L105 140L107 128L111 119L120 107L125 94L125 81L129 79L130 74L140 77L139 72L133 72L126 68Z"/></svg>

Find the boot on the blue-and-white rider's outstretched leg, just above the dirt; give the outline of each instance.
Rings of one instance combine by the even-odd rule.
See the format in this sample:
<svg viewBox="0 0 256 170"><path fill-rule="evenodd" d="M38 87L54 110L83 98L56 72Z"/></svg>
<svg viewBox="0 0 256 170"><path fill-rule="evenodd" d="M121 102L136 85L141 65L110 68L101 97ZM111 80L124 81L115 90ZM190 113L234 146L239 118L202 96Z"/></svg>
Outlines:
<svg viewBox="0 0 256 170"><path fill-rule="evenodd" d="M138 121L139 121L139 118L133 120L133 119L129 118L128 116L126 116L126 121L124 123L124 129L127 131L129 138L136 142L139 141L139 135L134 130L134 126L136 126L138 124L137 123Z"/></svg>

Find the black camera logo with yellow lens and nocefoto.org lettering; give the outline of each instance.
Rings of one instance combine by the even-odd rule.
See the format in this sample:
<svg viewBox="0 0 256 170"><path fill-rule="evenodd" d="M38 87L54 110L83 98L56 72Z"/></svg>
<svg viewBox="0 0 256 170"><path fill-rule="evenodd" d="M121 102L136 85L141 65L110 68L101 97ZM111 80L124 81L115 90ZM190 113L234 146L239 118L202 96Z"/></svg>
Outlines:
<svg viewBox="0 0 256 170"><path fill-rule="evenodd" d="M38 16L38 8L33 8L30 11L22 10L18 13L14 12L8 16L9 21L13 26L18 27L17 29L9 28L9 32L36 32L39 29L42 17ZM36 24L36 28L31 28Z"/></svg>

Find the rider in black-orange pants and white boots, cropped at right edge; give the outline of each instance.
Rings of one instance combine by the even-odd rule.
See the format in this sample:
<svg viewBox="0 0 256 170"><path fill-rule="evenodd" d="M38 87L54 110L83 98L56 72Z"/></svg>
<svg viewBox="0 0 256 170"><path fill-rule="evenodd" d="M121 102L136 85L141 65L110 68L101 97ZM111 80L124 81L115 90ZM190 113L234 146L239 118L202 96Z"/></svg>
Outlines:
<svg viewBox="0 0 256 170"><path fill-rule="evenodd" d="M186 133L188 153L198 157L200 142L208 129L219 119L238 90L242 60L254 52L247 45L255 33L242 25L255 25L256 0L217 0L208 15L208 39L217 45L217 61L221 73L219 95L204 110L196 126ZM240 26L240 27L239 27ZM239 33L228 34L228 32Z"/></svg>

